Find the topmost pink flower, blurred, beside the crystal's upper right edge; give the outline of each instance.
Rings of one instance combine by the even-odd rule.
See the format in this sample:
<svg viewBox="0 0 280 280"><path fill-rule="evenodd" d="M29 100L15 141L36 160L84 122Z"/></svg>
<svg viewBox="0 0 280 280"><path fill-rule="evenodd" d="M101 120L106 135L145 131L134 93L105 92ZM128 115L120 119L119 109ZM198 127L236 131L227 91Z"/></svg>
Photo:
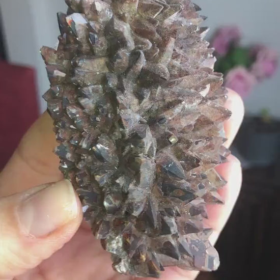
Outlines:
<svg viewBox="0 0 280 280"><path fill-rule="evenodd" d="M225 55L232 43L238 43L241 38L241 32L237 26L225 26L217 30L213 40L212 47L216 53Z"/></svg>

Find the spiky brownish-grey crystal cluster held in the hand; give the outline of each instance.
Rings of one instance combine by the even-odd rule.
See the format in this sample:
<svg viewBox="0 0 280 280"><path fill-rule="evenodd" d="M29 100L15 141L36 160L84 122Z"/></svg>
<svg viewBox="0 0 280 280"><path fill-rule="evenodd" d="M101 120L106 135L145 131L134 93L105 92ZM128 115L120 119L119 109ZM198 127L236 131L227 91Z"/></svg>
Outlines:
<svg viewBox="0 0 280 280"><path fill-rule="evenodd" d="M66 0L42 47L60 170L120 273L215 270L207 203L225 185L227 91L189 0Z"/></svg>

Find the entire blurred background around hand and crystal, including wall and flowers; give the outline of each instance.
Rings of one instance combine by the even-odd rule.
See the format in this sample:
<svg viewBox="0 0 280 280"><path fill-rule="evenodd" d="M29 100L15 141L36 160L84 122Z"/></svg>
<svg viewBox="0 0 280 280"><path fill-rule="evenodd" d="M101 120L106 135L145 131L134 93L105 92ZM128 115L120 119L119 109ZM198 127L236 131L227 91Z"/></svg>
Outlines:
<svg viewBox="0 0 280 280"><path fill-rule="evenodd" d="M211 27L217 71L242 96L246 116L233 145L244 182L217 243L221 266L199 279L278 279L280 261L280 2L196 0ZM46 109L39 49L54 46L64 0L0 1L0 170L26 129Z"/></svg>

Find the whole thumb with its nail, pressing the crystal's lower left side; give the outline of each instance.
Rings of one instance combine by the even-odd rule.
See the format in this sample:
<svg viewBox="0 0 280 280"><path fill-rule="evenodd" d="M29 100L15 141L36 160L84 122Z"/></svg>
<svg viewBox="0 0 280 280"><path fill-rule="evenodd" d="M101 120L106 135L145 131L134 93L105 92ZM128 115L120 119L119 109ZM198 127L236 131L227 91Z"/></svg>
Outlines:
<svg viewBox="0 0 280 280"><path fill-rule="evenodd" d="M82 215L71 183L63 180L0 199L0 279L39 265L68 242Z"/></svg>

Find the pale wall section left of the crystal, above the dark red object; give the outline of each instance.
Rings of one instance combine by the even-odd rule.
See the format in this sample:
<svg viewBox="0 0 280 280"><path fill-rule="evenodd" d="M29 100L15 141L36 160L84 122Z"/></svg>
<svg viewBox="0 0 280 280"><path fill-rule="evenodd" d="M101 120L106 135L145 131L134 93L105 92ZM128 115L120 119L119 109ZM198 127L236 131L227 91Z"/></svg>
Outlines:
<svg viewBox="0 0 280 280"><path fill-rule="evenodd" d="M57 12L65 12L63 0L0 0L4 34L9 60L30 65L37 70L40 108L46 108L41 97L49 88L41 46L54 46L59 35Z"/></svg>

